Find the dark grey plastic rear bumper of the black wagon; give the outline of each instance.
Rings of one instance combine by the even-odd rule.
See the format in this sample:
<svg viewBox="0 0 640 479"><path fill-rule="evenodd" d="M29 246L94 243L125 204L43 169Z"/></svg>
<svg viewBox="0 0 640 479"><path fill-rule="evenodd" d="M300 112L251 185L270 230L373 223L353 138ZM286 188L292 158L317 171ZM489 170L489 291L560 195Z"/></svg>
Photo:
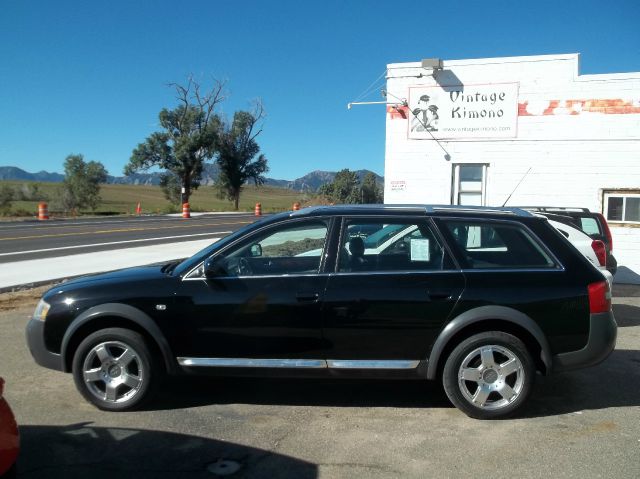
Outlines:
<svg viewBox="0 0 640 479"><path fill-rule="evenodd" d="M587 345L569 353L553 357L554 372L586 368L604 361L616 347L618 325L613 312L592 314Z"/></svg>

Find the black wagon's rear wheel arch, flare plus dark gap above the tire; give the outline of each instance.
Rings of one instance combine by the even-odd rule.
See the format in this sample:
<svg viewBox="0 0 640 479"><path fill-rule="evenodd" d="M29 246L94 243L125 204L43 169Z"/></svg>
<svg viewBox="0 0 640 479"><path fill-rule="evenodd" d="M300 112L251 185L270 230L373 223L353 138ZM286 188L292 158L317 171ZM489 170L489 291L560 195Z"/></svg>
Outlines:
<svg viewBox="0 0 640 479"><path fill-rule="evenodd" d="M552 371L551 348L540 326L521 311L506 306L481 306L450 321L436 339L427 362L427 379L436 379L453 349L474 334L502 331L525 343L543 374Z"/></svg>

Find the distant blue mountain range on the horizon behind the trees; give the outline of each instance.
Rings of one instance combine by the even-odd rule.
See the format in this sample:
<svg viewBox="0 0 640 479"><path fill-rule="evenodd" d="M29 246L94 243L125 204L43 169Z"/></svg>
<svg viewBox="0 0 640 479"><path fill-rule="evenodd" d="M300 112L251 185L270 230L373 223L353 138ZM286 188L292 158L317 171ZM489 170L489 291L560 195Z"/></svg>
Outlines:
<svg viewBox="0 0 640 479"><path fill-rule="evenodd" d="M367 173L373 173L369 170L357 170L358 178L362 181ZM217 165L205 165L202 174L203 185L213 185L218 178L219 170ZM378 183L384 183L384 178L380 175L376 176ZM136 173L129 176L108 176L107 183L118 185L159 185L160 173ZM336 176L334 171L312 171L306 175L290 181L276 180L267 178L265 184L276 188L286 188L295 191L317 191L320 186L325 183L331 183ZM0 166L0 180L19 180L19 181L41 181L59 183L64 180L64 175L60 173L49 173L48 171L39 171L37 173L28 173L15 166Z"/></svg>

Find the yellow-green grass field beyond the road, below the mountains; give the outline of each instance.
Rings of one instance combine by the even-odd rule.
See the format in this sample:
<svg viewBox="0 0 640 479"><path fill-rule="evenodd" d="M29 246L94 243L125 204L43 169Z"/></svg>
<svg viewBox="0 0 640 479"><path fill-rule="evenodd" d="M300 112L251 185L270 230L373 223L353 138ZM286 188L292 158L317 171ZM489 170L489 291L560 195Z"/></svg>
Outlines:
<svg viewBox="0 0 640 479"><path fill-rule="evenodd" d="M0 181L0 185L7 184L13 188L20 187L26 181ZM49 210L54 213L55 190L60 183L38 183L40 191L49 198ZM133 214L138 202L142 213L171 213L178 212L175 205L171 205L164 198L159 186L144 185L102 185L100 188L102 201L96 209L97 214ZM253 211L256 203L262 204L265 213L286 211L292 208L294 202L306 202L309 198L304 193L261 186L246 186L240 195L240 211ZM233 211L233 203L221 200L211 186L201 186L189 201L191 211ZM14 201L8 216L31 216L38 211L38 201ZM81 211L81 214L91 214L91 211Z"/></svg>

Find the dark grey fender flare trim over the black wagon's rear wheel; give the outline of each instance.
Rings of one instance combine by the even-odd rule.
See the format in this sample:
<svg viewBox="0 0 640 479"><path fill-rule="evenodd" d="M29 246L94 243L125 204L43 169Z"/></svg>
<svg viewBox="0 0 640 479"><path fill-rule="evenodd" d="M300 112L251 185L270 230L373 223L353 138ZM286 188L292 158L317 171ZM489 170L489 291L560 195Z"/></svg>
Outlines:
<svg viewBox="0 0 640 479"><path fill-rule="evenodd" d="M433 344L433 348L431 348L431 353L429 354L429 360L427 362L427 378L436 379L440 356L449 341L458 332L462 331L469 325L489 320L510 322L529 332L529 334L531 334L531 336L533 336L540 345L540 356L547 372L552 371L553 360L549 342L547 341L547 337L542 332L540 326L538 326L533 319L521 311L508 308L506 306L480 306L460 314L450 321L442 330Z"/></svg>

